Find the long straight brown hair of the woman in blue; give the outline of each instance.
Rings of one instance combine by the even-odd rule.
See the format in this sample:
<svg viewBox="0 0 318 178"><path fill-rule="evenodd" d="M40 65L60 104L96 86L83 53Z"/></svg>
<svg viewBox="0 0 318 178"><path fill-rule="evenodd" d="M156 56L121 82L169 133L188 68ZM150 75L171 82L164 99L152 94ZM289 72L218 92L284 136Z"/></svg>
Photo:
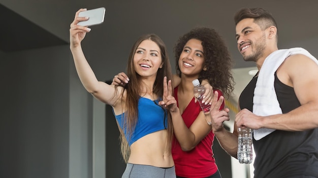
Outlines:
<svg viewBox="0 0 318 178"><path fill-rule="evenodd" d="M141 42L144 40L151 40L155 42L161 51L161 58L163 67L159 68L156 74L156 79L153 84L153 94L162 97L164 94L164 77L167 76L167 80L172 80L172 72L171 72L171 66L169 61L169 55L167 48L164 44L164 42L161 40L160 37L158 37L155 34L148 34L141 36L133 45L131 53L129 55L128 59L128 66L127 66L127 76L129 77L130 81L128 84L125 85L125 91L126 91L126 100L125 100L125 118L123 123L123 130L128 133L127 135L132 135L134 132L137 120L138 120L138 101L141 94L141 87L143 85L140 75L136 72L134 67L134 54L140 45ZM173 87L173 86L172 86ZM122 93L123 95L123 93ZM167 111L166 111L167 112ZM168 150L171 150L171 142L172 142L172 135L173 135L173 127L172 127L172 120L170 112L168 111L168 143L167 148ZM123 159L125 162L128 161L129 155L130 155L130 148L128 145L128 140L130 138L126 138L123 134L123 131L121 131L120 134L121 138L121 154L123 156Z"/></svg>

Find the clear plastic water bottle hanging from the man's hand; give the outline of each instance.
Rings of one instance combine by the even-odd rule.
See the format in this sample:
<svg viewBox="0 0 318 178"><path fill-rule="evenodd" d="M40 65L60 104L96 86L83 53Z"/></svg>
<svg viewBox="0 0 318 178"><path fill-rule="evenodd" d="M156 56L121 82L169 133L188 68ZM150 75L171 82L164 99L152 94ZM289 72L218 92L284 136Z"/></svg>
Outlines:
<svg viewBox="0 0 318 178"><path fill-rule="evenodd" d="M250 164L253 160L252 135L253 129L238 128L237 159L241 164Z"/></svg>

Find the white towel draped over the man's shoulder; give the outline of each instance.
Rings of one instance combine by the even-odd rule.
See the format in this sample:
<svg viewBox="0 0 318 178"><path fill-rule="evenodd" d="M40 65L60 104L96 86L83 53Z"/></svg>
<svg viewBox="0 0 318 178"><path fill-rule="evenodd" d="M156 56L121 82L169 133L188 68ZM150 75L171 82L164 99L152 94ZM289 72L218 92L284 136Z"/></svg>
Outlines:
<svg viewBox="0 0 318 178"><path fill-rule="evenodd" d="M280 49L266 57L256 82L253 97L253 113L260 116L281 114L277 96L274 88L274 73L288 56L304 54L314 62L318 61L307 50L303 48ZM260 140L275 131L274 129L261 128L254 130L254 138Z"/></svg>

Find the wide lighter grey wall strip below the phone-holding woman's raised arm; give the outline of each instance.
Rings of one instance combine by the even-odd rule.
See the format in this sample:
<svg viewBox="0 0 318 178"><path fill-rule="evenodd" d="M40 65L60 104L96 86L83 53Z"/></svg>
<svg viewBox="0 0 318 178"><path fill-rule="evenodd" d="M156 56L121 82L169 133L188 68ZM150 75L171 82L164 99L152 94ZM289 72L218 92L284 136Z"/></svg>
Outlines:
<svg viewBox="0 0 318 178"><path fill-rule="evenodd" d="M68 56L70 68L68 75L65 76L70 78L68 177L88 178L92 177L93 100L77 76L70 50Z"/></svg>

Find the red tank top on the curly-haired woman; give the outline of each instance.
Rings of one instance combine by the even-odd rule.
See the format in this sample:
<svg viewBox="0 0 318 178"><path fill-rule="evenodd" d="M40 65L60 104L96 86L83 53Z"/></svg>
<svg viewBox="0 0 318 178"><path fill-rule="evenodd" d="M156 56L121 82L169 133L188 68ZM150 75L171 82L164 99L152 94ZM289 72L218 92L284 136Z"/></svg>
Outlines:
<svg viewBox="0 0 318 178"><path fill-rule="evenodd" d="M218 97L220 97L222 93L218 90L217 92L219 95ZM174 89L174 96L179 107L177 93L178 87ZM220 109L223 108L224 103L221 105ZM199 103L195 103L195 98L193 98L181 114L183 121L188 128L196 120L200 111L202 110ZM217 171L217 166L212 151L213 140L214 134L211 131L193 150L184 152L182 151L179 142L174 138L172 142L172 156L175 163L176 175L181 177L207 177L214 174Z"/></svg>

